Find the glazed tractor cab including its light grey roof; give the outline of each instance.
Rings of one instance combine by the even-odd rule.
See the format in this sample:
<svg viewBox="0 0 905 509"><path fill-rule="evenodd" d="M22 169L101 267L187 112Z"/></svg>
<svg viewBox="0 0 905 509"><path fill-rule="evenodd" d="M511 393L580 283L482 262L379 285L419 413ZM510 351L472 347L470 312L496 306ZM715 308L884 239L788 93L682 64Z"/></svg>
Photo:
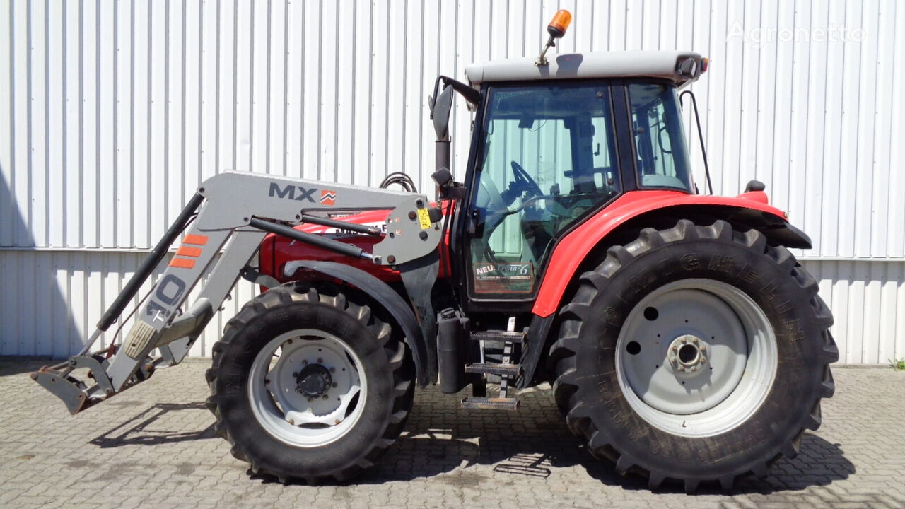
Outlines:
<svg viewBox="0 0 905 509"><path fill-rule="evenodd" d="M560 54L466 67L472 154L456 226L468 303L530 307L557 239L617 197L696 192L678 89L697 53ZM438 163L439 164L439 163Z"/></svg>

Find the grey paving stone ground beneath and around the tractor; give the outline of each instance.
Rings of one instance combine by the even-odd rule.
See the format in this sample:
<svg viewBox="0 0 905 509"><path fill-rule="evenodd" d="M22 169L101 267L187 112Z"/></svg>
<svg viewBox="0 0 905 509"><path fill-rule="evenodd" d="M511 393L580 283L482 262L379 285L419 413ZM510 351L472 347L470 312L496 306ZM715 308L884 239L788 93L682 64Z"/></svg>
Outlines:
<svg viewBox="0 0 905 509"><path fill-rule="evenodd" d="M905 507L905 373L834 370L824 425L764 480L729 494L652 493L578 446L550 390L522 409L466 412L424 389L403 437L351 485L256 478L215 437L204 360L70 416L27 373L0 360L0 507Z"/></svg>

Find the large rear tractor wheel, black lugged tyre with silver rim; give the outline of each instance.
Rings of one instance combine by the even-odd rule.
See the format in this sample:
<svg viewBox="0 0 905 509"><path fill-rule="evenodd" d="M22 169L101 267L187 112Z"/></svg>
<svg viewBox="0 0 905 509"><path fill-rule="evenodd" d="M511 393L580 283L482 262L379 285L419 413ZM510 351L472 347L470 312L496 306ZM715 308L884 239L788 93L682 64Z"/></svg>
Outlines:
<svg viewBox="0 0 905 509"><path fill-rule="evenodd" d="M814 278L756 230L648 228L583 274L563 308L557 405L620 473L729 489L820 426L832 322Z"/></svg>

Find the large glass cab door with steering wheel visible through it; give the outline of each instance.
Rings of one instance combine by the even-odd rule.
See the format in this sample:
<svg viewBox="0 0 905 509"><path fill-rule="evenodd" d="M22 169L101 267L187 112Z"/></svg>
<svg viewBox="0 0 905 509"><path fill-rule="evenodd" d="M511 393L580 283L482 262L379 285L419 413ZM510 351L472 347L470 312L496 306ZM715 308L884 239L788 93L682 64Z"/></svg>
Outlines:
<svg viewBox="0 0 905 509"><path fill-rule="evenodd" d="M609 88L492 87L480 154L472 293L533 293L557 235L619 192Z"/></svg>

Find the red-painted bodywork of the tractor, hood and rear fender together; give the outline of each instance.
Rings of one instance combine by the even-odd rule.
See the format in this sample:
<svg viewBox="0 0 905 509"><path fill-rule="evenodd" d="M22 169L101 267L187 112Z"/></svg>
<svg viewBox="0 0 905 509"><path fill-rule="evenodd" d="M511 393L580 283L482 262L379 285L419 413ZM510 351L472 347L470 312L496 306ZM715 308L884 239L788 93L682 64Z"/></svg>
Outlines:
<svg viewBox="0 0 905 509"><path fill-rule="evenodd" d="M578 266L596 245L620 225L633 217L640 216L653 210L681 206L726 206L733 208L748 208L778 216L785 221L785 214L774 206L767 204L767 194L763 191L753 191L738 195L738 197L714 197L708 195L688 195L678 191L630 191L618 197L612 204L606 206L595 216L590 217L576 229L562 238L553 250L547 270L540 282L538 298L531 312L546 317L556 312L563 293L566 292L568 283L572 281ZM452 202L445 202L444 213L452 213ZM383 226L385 225L388 210L372 210L359 214L337 217L337 219L356 223L359 225ZM335 235L334 238L362 247L367 252L373 252L374 245L380 241L380 237L359 235L353 232L339 232L329 226L305 225L296 226L296 229L312 234L327 233ZM441 260L449 260L449 233L443 239ZM282 274L283 265L294 260L328 260L357 267L368 274L375 275L378 279L389 282L399 281L399 273L389 269L385 265L376 265L360 259L353 260L343 255L336 255L329 251L303 245L286 237L267 235L264 239L260 253L262 274L269 274L281 283L306 277L315 277L314 274L294 274L287 277ZM449 277L451 269L443 263L438 277Z"/></svg>

